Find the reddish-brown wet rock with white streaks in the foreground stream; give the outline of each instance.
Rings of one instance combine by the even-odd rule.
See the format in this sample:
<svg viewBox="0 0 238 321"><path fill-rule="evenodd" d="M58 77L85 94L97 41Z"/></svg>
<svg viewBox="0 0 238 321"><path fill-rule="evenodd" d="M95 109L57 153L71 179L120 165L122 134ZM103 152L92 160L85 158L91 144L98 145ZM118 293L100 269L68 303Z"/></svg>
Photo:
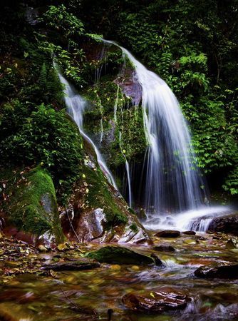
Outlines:
<svg viewBox="0 0 238 321"><path fill-rule="evenodd" d="M161 287L156 291L145 292L142 295L128 293L123 296L123 303L128 309L141 312L185 309L190 300L185 292L172 287Z"/></svg>

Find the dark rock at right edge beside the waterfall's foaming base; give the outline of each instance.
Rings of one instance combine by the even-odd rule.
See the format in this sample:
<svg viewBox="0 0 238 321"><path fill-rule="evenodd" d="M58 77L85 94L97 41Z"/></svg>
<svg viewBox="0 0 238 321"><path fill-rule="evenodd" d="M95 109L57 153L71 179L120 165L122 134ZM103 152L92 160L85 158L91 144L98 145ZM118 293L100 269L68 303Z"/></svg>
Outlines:
<svg viewBox="0 0 238 321"><path fill-rule="evenodd" d="M238 213L214 218L208 230L238 235Z"/></svg>

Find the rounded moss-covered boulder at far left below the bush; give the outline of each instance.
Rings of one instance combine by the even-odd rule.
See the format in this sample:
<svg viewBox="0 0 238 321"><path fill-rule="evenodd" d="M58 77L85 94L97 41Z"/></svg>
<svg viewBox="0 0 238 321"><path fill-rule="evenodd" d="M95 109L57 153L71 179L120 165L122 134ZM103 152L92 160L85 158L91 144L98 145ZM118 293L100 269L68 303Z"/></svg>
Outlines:
<svg viewBox="0 0 238 321"><path fill-rule="evenodd" d="M6 225L43 242L63 242L56 192L48 172L41 166L23 170L9 184L9 198L4 202Z"/></svg>

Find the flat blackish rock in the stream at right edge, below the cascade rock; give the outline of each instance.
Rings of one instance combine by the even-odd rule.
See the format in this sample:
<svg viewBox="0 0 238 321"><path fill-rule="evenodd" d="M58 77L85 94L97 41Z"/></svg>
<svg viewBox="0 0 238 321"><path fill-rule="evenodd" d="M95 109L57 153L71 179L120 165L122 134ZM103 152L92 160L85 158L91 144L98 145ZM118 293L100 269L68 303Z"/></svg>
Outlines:
<svg viewBox="0 0 238 321"><path fill-rule="evenodd" d="M196 277L237 279L238 264L202 266L195 270Z"/></svg>

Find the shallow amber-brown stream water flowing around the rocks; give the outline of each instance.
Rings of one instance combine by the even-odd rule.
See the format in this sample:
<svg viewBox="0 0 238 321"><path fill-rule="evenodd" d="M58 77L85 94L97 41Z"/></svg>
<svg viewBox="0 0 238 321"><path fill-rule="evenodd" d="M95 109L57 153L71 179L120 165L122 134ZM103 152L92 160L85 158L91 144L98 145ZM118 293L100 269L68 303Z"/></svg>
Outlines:
<svg viewBox="0 0 238 321"><path fill-rule="evenodd" d="M165 263L163 268L102 264L94 270L54 272L51 277L19 275L0 285L0 311L11 311L15 318L9 320L238 320L238 280L205 280L193 274L201 265L237 263L238 250L225 248L229 238L207 233L153 237L155 245L171 245L174 253L130 246L140 253L156 253ZM98 246L88 245L84 250ZM43 256L46 262L52 259L51 254ZM187 290L192 302L185 310L156 315L131 312L122 303L128 292L143 294L164 286Z"/></svg>

